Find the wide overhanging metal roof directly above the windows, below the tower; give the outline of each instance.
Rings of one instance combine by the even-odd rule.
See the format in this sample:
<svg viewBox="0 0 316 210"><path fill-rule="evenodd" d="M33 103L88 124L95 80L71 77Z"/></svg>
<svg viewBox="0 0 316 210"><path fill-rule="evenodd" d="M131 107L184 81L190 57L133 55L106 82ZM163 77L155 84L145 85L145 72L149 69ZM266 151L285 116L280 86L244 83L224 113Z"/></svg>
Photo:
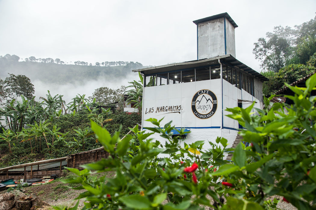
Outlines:
<svg viewBox="0 0 316 210"><path fill-rule="evenodd" d="M177 71L182 69L190 69L196 68L200 66L208 66L208 65L219 65L218 59L221 59L221 62L226 62L230 65L238 67L240 70L252 75L253 77L258 78L261 81L269 81L268 78L264 77L262 74L258 73L257 71L253 70L249 66L241 63L239 60L235 59L232 55L222 55L216 56L213 58L201 59L201 60L193 60L193 61L186 61L182 63L173 63L161 66L153 66L145 69L136 69L132 70L134 72L140 71L145 75L162 73L162 72L169 72L169 71Z"/></svg>

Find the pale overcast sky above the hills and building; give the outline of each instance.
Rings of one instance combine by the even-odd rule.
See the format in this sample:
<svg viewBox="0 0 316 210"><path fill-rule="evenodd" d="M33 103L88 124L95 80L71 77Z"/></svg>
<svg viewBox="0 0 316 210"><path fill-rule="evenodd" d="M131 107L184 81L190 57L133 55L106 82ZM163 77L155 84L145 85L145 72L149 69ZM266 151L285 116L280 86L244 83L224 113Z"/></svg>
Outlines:
<svg viewBox="0 0 316 210"><path fill-rule="evenodd" d="M59 58L69 64L196 60L192 21L223 12L238 25L236 58L260 71L253 43L274 26L293 27L313 19L316 1L0 0L0 55Z"/></svg>

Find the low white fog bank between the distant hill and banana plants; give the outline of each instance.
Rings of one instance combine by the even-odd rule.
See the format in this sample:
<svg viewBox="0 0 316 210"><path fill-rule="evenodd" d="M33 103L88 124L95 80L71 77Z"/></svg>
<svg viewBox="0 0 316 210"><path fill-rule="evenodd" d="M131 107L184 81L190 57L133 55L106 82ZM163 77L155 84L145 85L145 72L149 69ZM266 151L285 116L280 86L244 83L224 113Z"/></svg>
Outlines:
<svg viewBox="0 0 316 210"><path fill-rule="evenodd" d="M85 83L65 83L65 84L52 84L52 83L44 83L40 80L31 81L34 85L35 89L35 100L36 101L42 101L40 100L40 97L46 98L46 94L48 94L47 90L50 91L50 94L52 96L55 96L57 94L63 95L63 99L66 103L69 103L71 99L75 98L76 95L85 94L85 98L88 98L89 96L92 96L95 89L100 87L108 87L112 89L117 89L124 86L129 86L130 84L128 82L132 82L133 80L138 81L138 73L131 72L129 75L126 75L125 79L115 80L115 78L100 78L99 80L90 80ZM129 88L130 89L130 88Z"/></svg>

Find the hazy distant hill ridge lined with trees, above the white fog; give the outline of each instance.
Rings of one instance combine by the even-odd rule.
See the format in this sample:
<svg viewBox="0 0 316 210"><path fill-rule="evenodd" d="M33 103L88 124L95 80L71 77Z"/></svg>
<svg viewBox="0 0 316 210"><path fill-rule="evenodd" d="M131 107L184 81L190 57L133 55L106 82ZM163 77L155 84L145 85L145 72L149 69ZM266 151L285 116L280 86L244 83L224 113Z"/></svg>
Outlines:
<svg viewBox="0 0 316 210"><path fill-rule="evenodd" d="M34 56L31 56L34 57ZM30 58L31 58L30 57ZM98 80L100 78L112 78L112 80L121 80L126 78L133 69L143 68L139 62L124 62L126 65L116 65L118 62L105 62L104 66L98 65L61 65L58 59L55 63L51 59L50 62L36 62L35 57L32 61L19 62L16 55L6 54L0 56L0 76L5 77L6 73L15 75L23 74L32 81L40 80L43 83L85 83L90 80ZM49 60L49 59L46 59ZM58 63L57 63L58 62ZM123 61L121 62L123 64ZM112 66L113 65L113 66Z"/></svg>

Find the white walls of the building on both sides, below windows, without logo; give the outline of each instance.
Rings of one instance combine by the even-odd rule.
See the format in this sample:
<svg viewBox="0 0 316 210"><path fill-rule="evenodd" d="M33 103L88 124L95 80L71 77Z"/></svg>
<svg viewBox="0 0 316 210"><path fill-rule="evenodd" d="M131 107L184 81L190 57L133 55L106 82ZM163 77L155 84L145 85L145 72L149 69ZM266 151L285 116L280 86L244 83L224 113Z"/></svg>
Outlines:
<svg viewBox="0 0 316 210"><path fill-rule="evenodd" d="M223 85L223 88L221 88L221 85ZM216 95L217 109L208 119L200 119L192 111L193 96L200 90L210 90ZM228 140L228 147L231 147L237 136L239 126L236 120L226 116L230 112L225 110L227 107L237 107L238 100L256 101L254 107L263 108L263 103L251 94L243 89L236 88L226 80L223 80L223 84L221 84L221 79L145 87L142 125L143 128L154 127L151 122L145 120L149 118L160 120L164 117L161 121L161 127L172 121L172 125L176 128L191 129L191 133L183 140L187 144L205 140L204 148L207 149L210 148L208 141L216 143L216 138L222 136ZM252 102L242 102L243 108L251 104ZM172 110L169 109L170 107L172 107ZM221 129L222 120L223 128ZM159 135L155 134L152 138L161 141L165 145L165 139Z"/></svg>

